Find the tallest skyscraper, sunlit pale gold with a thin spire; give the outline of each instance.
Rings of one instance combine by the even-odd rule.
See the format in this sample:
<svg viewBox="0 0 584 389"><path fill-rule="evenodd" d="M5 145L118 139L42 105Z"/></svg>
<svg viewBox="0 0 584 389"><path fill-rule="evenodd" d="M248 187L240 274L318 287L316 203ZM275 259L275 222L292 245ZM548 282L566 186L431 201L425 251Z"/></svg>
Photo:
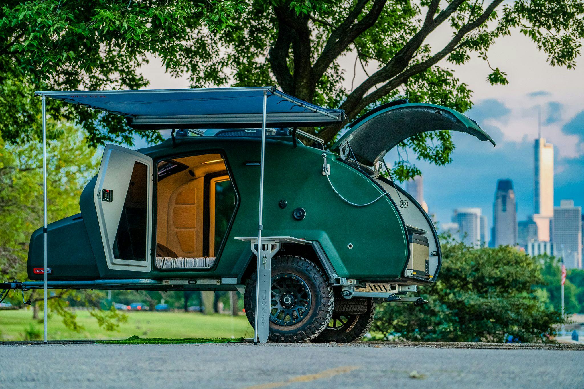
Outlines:
<svg viewBox="0 0 584 389"><path fill-rule="evenodd" d="M554 145L540 136L534 143L534 157L533 221L537 224L537 240L549 241L554 217Z"/></svg>

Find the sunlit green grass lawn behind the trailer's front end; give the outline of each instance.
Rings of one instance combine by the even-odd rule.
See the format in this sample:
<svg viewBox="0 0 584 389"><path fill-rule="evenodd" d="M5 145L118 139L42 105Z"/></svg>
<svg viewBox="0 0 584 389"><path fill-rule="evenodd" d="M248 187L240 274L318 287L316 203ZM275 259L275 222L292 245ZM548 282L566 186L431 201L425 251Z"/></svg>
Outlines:
<svg viewBox="0 0 584 389"><path fill-rule="evenodd" d="M253 328L245 316L185 312L128 311L128 322L120 324L120 331L105 331L88 311L75 311L77 322L84 327L74 332L65 327L61 317L48 319L49 339L127 339L141 338L253 338ZM40 311L42 316L43 312ZM43 324L32 320L32 310L0 310L0 340L20 341L32 324L43 334Z"/></svg>

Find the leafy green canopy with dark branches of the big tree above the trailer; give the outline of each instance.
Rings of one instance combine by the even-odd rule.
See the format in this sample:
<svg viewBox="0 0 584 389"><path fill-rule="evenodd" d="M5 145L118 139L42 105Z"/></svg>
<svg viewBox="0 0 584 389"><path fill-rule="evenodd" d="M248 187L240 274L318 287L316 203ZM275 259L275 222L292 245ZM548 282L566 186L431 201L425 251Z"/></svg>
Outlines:
<svg viewBox="0 0 584 389"><path fill-rule="evenodd" d="M478 56L486 80L506 84L505 64L488 50L511 33L529 36L551 65L571 68L584 34L582 0L8 0L0 10L2 138L18 142L38 127L33 89L139 88L149 56L193 86L279 86L300 99L342 108L349 120L388 100L442 104L459 111L472 91L450 68ZM443 47L429 37L450 29ZM442 32L443 33L443 32ZM376 70L360 85L340 59ZM501 66L500 68L498 66ZM353 79L354 81L354 79ZM19 114L13 115L16 110ZM92 144L131 142L134 131L115 115L49 104L51 116L76 120ZM330 144L341 125L309 129ZM141 132L149 140L157 136ZM451 160L450 134L412 136L419 159ZM398 160L399 178L419 173Z"/></svg>

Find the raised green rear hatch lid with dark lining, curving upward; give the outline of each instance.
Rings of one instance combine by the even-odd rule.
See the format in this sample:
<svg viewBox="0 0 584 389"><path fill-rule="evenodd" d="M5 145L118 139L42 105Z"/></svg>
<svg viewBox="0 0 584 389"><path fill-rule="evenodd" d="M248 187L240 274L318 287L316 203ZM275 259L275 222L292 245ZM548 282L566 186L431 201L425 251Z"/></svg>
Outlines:
<svg viewBox="0 0 584 389"><path fill-rule="evenodd" d="M477 122L458 111L435 104L397 100L374 108L353 121L349 131L333 148L343 148L350 142L350 148L360 163L375 166L385 153L410 136L443 130L466 132L495 145Z"/></svg>

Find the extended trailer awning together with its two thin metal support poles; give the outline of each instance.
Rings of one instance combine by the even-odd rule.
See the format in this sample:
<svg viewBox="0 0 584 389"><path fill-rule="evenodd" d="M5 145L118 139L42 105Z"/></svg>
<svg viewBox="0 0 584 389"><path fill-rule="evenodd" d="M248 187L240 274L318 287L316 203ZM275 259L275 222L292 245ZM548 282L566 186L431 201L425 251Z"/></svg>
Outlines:
<svg viewBox="0 0 584 389"><path fill-rule="evenodd" d="M266 127L321 127L343 122L342 110L315 106L276 87L34 92L43 99L43 244L44 342L47 343L47 126L46 98L123 115L136 129L262 128L258 207L256 314L253 342L267 342L270 310L260 310L260 296L270 296L272 261L262 243ZM253 250L252 250L253 251ZM273 253L272 253L273 254ZM270 254L270 255L272 255ZM270 257L271 258L271 257ZM269 304L269 302L268 302Z"/></svg>

